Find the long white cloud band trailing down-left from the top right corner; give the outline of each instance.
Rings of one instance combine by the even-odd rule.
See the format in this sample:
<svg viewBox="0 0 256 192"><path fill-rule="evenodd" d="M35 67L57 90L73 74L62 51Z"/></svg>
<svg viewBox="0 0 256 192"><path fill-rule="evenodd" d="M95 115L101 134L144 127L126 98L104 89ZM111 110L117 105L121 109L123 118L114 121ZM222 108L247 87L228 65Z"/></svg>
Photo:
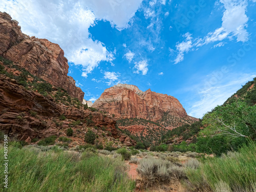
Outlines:
<svg viewBox="0 0 256 192"><path fill-rule="evenodd" d="M248 22L246 15L247 0L220 0L220 2L225 8L222 16L222 26L213 32L209 32L203 38L186 38L181 44L177 44L178 55L175 59L175 64L182 61L184 59L184 53L194 50L194 47L202 47L212 42L222 41L226 38L232 40L233 37L236 37L237 41L245 42L248 40L249 33L246 30ZM217 44L214 48L222 47L223 45L224 44L220 42L220 44Z"/></svg>

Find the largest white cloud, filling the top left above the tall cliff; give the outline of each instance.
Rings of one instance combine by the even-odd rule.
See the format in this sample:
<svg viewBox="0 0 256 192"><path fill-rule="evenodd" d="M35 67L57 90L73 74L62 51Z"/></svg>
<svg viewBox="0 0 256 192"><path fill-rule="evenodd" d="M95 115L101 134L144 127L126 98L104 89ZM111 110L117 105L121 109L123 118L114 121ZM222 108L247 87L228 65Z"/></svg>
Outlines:
<svg viewBox="0 0 256 192"><path fill-rule="evenodd" d="M88 29L97 19L109 20L117 29L126 28L142 0L113 1L0 1L0 11L18 20L25 34L57 43L65 56L82 65L87 77L101 61L114 55L100 41L90 38ZM111 62L113 65L113 63Z"/></svg>

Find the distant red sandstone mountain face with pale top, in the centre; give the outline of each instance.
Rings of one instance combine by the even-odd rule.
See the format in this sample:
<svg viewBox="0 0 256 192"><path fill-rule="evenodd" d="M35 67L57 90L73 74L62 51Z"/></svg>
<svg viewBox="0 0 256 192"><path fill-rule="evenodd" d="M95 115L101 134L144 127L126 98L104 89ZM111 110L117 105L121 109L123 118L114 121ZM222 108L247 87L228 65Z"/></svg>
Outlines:
<svg viewBox="0 0 256 192"><path fill-rule="evenodd" d="M115 114L119 118L143 118L151 121L160 120L164 113L186 118L187 113L175 97L152 92L142 92L136 86L117 84L106 89L93 108Z"/></svg>

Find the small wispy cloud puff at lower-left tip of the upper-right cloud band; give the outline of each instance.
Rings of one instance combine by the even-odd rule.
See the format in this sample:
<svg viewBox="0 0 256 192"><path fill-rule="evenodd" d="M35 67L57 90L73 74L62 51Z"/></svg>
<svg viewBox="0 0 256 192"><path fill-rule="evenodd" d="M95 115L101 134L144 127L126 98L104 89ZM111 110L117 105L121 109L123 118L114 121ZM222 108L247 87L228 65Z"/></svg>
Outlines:
<svg viewBox="0 0 256 192"><path fill-rule="evenodd" d="M183 61L184 59L184 53L188 52L192 47L192 37L190 33L186 33L185 35L183 35L183 37L186 38L185 41L182 41L181 43L178 43L176 45L176 49L178 50L178 56L176 57L175 64L177 64L178 62Z"/></svg>

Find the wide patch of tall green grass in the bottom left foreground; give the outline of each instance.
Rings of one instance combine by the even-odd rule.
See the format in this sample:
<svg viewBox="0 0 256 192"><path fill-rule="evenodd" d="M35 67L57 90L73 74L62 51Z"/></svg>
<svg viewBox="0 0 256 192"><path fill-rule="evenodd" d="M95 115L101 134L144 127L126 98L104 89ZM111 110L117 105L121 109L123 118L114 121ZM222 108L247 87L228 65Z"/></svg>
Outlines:
<svg viewBox="0 0 256 192"><path fill-rule="evenodd" d="M87 153L87 152L84 152ZM4 149L0 147L1 162ZM8 191L133 191L135 183L125 173L120 159L84 156L76 152L48 151L39 148L9 147ZM4 170L3 163L0 169ZM1 173L3 176L3 172ZM1 177L2 178L2 177ZM7 191L3 182L1 191Z"/></svg>

